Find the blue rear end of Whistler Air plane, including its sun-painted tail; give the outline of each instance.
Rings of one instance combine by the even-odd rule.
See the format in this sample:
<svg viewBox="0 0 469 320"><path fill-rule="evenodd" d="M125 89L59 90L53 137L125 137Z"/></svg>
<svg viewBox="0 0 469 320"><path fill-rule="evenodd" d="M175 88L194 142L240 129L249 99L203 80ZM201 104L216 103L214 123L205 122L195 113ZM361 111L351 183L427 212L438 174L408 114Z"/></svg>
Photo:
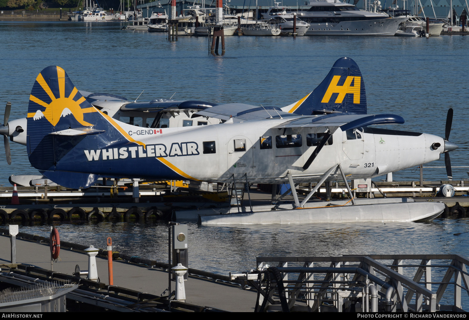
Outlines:
<svg viewBox="0 0 469 320"><path fill-rule="evenodd" d="M135 136L132 130L136 128L87 102L58 66L45 68L34 82L28 107L28 157L53 182L79 189L98 177L194 179L165 159L166 146L157 155L151 145L147 153L140 140L162 135L162 129L142 130L144 134Z"/></svg>

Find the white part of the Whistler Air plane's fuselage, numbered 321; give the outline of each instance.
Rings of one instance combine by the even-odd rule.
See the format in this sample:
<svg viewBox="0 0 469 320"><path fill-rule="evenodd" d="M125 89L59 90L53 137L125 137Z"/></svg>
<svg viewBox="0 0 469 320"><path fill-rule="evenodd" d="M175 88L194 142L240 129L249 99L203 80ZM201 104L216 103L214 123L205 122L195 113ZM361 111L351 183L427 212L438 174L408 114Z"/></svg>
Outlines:
<svg viewBox="0 0 469 320"><path fill-rule="evenodd" d="M412 133L399 135L391 131L383 134L386 131L382 130L366 133L368 129L365 128L365 133L357 129L358 134L353 133L356 138L352 139L350 132L347 134L339 128L332 136L332 144L325 145L310 167L303 170L303 165L316 148L314 143L318 143L318 139L314 140L313 137L309 146L308 134L314 135L318 128L272 128L285 121L277 118L165 128L159 134L148 134L142 131L143 128L129 124L117 124L126 132L132 132L132 138L146 145L133 153L136 165L137 158L153 157L155 164L161 161L185 178L210 182L233 182L234 175L236 181L247 179L250 183L282 183L287 181L288 171L295 182L314 182L337 164L341 165L346 175L351 175L351 179L369 178L438 160L445 147L443 138L425 133L418 136ZM318 133L321 132L324 130ZM278 147L277 136L283 136L283 140L294 140L293 146ZM271 148L261 149L261 138L266 137L271 137ZM215 142L214 153L204 153L207 150L213 152L212 149L204 149L204 142L211 141ZM440 146L433 150L433 143ZM117 147L113 144L107 146L109 149ZM87 152L90 154L91 151ZM119 159L103 160L99 156L89 161ZM148 178L152 177L149 170ZM337 171L328 178L337 179L342 180Z"/></svg>

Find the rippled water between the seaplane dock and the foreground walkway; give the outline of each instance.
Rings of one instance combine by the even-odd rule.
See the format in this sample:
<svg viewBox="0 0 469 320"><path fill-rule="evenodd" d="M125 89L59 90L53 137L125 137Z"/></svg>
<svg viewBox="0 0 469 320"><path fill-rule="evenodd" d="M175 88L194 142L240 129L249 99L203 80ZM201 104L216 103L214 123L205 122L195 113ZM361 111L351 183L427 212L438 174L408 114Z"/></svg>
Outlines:
<svg viewBox="0 0 469 320"><path fill-rule="evenodd" d="M469 256L469 219L430 223L321 225L188 224L189 266L223 275L256 267L256 256L336 256L351 254L460 254ZM156 261L167 261L165 223L85 222L56 225L65 241L106 248ZM49 225L20 226L47 236ZM454 235L460 233L459 235ZM420 263L420 262L418 262Z"/></svg>

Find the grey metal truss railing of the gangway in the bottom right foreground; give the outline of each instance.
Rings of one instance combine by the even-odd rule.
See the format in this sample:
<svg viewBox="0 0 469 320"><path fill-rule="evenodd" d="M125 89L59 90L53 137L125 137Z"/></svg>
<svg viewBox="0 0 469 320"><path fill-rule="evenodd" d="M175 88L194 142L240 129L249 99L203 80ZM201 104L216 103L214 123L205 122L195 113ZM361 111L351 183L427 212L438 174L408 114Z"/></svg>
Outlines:
<svg viewBox="0 0 469 320"><path fill-rule="evenodd" d="M266 285L265 273L275 268L281 273L290 311L463 311L461 290L469 295L469 260L461 255L257 257L256 261L257 270L251 273L263 275L256 279L245 275L246 284L259 291L256 310L264 299L264 311L282 310L274 295L278 289L272 290L278 287Z"/></svg>

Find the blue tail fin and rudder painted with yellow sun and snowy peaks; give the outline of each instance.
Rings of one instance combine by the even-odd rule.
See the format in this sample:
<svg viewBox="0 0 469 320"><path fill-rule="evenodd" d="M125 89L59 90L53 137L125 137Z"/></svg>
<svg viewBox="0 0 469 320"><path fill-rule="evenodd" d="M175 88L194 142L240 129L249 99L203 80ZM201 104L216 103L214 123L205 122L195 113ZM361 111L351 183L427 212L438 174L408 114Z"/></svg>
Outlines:
<svg viewBox="0 0 469 320"><path fill-rule="evenodd" d="M97 121L98 110L78 92L67 73L59 66L46 67L34 82L28 106L27 150L31 165L53 182L74 181L62 184L67 187L90 186L98 179L97 175L71 172L62 175L57 167L61 157L83 138L68 136L59 141L51 133L93 128Z"/></svg>

